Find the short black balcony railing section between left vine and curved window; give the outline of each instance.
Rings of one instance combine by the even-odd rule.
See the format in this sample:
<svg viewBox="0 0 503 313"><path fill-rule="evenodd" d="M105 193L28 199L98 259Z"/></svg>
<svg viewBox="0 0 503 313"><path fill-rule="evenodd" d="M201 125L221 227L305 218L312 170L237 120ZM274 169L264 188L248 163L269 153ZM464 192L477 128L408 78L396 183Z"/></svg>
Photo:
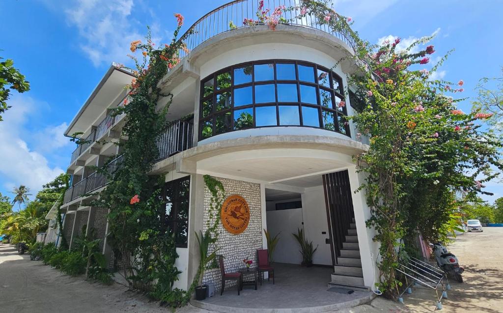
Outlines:
<svg viewBox="0 0 503 313"><path fill-rule="evenodd" d="M175 121L168 126L156 140L159 149L157 161L192 148L193 130L193 123L182 120Z"/></svg>

